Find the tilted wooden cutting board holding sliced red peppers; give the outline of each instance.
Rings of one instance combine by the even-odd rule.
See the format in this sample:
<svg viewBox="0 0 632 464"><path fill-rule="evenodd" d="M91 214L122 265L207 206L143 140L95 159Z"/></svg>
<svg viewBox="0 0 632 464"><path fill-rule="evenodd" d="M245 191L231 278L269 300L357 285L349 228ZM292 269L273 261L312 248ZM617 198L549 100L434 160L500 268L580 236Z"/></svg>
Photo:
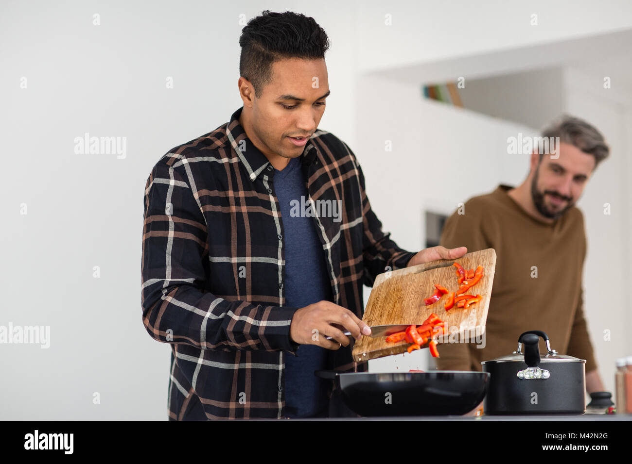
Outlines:
<svg viewBox="0 0 632 464"><path fill-rule="evenodd" d="M459 263L465 270L483 266L483 278L468 290L468 294L481 295L480 302L470 305L468 309L456 307L446 311L444 303L447 296L426 306L423 301L435 293L434 284L443 285L450 292L459 288L456 268ZM420 325L434 312L446 323L447 334L440 336L439 343L447 343L457 336L482 335L487 321L489 299L492 294L494 272L496 268L496 252L488 248L467 253L458 259L439 259L418 266L383 273L375 278L371 294L362 321L368 326L382 324L416 324ZM463 338L461 338L462 340ZM459 340L459 338L456 338ZM473 341L473 340L472 340ZM363 336L353 347L353 360L356 362L375 359L392 354L406 352L408 342L387 343L386 337L371 338ZM428 343L422 348L428 346ZM441 346L439 346L441 356Z"/></svg>

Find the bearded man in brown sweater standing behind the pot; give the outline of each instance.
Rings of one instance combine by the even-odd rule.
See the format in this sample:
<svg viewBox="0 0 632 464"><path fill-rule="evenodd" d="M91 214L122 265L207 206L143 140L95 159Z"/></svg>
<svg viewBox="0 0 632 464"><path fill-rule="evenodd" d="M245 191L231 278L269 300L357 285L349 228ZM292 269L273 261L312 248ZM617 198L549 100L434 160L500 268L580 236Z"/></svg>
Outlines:
<svg viewBox="0 0 632 464"><path fill-rule="evenodd" d="M586 360L586 390L603 391L583 312L586 256L583 215L574 206L597 165L609 155L602 134L563 116L545 129L559 143L536 147L525 181L471 198L446 221L441 245L497 254L485 343L441 345L437 367L482 371L481 362L510 354L527 330L549 335L552 348ZM552 138L552 139L551 139ZM546 352L540 340L540 352Z"/></svg>

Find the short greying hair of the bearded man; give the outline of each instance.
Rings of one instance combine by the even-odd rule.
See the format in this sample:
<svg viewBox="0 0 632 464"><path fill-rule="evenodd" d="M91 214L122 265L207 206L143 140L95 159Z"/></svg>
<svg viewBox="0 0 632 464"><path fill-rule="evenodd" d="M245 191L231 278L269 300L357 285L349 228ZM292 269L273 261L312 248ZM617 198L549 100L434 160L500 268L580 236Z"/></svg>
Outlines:
<svg viewBox="0 0 632 464"><path fill-rule="evenodd" d="M544 129L543 137L559 137L560 142L570 143L582 152L595 157L595 168L610 154L610 148L605 143L604 136L588 122L578 117L562 114L559 119ZM542 153L540 160L542 160Z"/></svg>

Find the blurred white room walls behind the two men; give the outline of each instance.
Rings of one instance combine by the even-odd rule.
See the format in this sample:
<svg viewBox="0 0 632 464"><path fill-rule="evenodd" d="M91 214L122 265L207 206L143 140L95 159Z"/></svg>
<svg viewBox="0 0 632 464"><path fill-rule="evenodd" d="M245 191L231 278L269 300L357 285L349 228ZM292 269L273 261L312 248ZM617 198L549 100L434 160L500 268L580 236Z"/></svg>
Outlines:
<svg viewBox="0 0 632 464"><path fill-rule="evenodd" d="M508 137L562 112L604 134L611 157L578 206L585 313L614 391L614 360L632 354L632 3L5 0L0 325L49 326L50 346L0 344L0 419L166 420L171 350L140 306L145 182L241 107L238 39L264 9L329 35L319 127L355 152L375 213L410 251L459 203L523 181L528 155L507 154ZM87 133L125 151L75 153ZM369 367L426 369L427 356Z"/></svg>

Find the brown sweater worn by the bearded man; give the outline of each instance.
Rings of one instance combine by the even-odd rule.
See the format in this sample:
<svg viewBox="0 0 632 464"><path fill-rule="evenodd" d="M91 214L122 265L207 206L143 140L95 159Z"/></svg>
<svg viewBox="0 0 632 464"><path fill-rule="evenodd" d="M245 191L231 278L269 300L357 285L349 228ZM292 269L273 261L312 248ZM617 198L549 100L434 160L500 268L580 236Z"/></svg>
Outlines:
<svg viewBox="0 0 632 464"><path fill-rule="evenodd" d="M597 364L582 309L583 215L573 207L553 223L538 221L507 195L509 189L501 185L471 198L465 214L456 211L446 221L443 246L466 246L468 252L494 248L497 261L485 348L440 345L437 368L481 371L481 361L516 350L521 333L542 330L554 350L585 359L586 372L593 371ZM537 266L537 278L532 266ZM546 352L542 339L540 352Z"/></svg>

